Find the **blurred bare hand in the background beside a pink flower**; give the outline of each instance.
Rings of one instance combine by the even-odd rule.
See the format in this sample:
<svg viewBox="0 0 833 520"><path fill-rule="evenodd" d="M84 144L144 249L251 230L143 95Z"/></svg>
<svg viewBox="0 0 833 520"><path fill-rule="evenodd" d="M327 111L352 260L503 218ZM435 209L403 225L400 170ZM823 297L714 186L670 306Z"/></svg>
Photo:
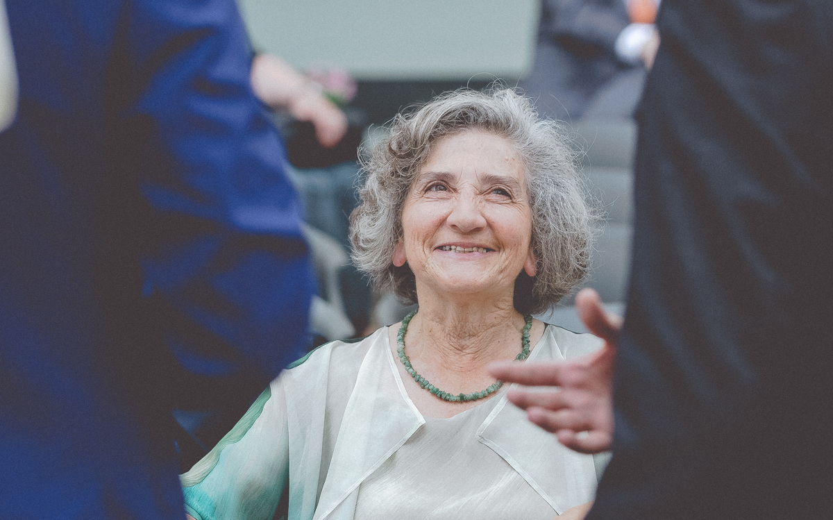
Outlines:
<svg viewBox="0 0 833 520"><path fill-rule="evenodd" d="M273 108L287 108L298 121L312 122L318 143L332 148L347 133L347 116L292 65L272 54L258 54L252 60L252 89Z"/></svg>

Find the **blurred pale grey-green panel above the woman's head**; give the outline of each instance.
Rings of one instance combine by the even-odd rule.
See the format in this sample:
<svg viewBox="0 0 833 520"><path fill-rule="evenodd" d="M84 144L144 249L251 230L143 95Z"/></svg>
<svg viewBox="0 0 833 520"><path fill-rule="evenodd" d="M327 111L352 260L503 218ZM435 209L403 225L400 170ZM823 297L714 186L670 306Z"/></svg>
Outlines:
<svg viewBox="0 0 833 520"><path fill-rule="evenodd" d="M517 79L538 0L238 0L254 47L362 81Z"/></svg>

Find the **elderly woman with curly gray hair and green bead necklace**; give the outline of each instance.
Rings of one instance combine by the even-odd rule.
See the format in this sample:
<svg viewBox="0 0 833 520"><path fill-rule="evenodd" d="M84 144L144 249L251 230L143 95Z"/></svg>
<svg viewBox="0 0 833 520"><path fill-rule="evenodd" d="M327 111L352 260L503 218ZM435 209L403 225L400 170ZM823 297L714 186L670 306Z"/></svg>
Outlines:
<svg viewBox="0 0 833 520"><path fill-rule="evenodd" d="M542 518L593 497L590 455L486 365L599 341L532 318L586 273L591 212L556 123L511 90L397 116L365 165L353 258L418 312L293 363L182 476L198 520Z"/></svg>

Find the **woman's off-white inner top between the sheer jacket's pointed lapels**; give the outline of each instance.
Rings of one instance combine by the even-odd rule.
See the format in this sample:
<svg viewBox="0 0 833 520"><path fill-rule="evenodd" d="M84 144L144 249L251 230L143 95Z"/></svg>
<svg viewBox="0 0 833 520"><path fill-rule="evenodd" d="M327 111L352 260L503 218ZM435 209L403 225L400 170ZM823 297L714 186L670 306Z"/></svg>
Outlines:
<svg viewBox="0 0 833 520"><path fill-rule="evenodd" d="M359 487L357 520L555 517L555 509L519 473L478 442L477 428L498 400L451 418L425 418Z"/></svg>

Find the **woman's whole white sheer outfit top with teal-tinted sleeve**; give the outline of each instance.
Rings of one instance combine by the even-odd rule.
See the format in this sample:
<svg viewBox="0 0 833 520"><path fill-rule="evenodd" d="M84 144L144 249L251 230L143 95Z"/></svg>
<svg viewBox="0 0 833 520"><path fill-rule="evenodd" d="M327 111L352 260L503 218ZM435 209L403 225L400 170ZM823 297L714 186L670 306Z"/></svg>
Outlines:
<svg viewBox="0 0 833 520"><path fill-rule="evenodd" d="M547 326L529 360L599 345ZM453 418L425 418L396 363L381 328L285 370L182 475L187 512L197 520L549 520L593 498L593 458L529 423L505 393Z"/></svg>

